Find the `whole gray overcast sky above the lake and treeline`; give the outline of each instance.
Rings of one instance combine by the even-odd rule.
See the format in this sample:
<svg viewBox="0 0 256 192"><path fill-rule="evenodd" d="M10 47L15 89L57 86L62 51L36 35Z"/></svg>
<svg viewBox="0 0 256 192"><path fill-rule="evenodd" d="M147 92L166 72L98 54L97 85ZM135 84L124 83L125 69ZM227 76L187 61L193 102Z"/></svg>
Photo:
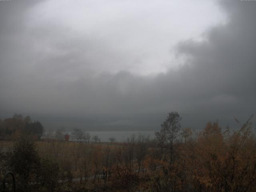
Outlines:
<svg viewBox="0 0 256 192"><path fill-rule="evenodd" d="M0 1L0 117L202 129L256 109L256 1ZM255 119L255 118L254 118ZM255 121L255 120L254 120Z"/></svg>

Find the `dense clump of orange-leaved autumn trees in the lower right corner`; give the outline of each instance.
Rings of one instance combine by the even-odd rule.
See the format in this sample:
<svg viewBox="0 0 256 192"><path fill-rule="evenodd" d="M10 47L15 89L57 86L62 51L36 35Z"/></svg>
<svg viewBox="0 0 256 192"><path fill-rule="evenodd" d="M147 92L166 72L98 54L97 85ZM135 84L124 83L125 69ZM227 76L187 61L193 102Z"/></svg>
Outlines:
<svg viewBox="0 0 256 192"><path fill-rule="evenodd" d="M252 116L233 134L208 122L196 140L176 143L170 171L155 174L152 191L255 191L256 139Z"/></svg>

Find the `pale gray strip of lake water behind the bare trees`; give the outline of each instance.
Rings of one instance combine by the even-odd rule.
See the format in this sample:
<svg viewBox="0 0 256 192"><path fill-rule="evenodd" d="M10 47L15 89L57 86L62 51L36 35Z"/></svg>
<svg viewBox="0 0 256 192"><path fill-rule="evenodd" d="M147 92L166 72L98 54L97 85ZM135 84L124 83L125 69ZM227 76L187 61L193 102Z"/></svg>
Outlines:
<svg viewBox="0 0 256 192"><path fill-rule="evenodd" d="M110 137L116 138L117 142L125 142L132 134L135 134L136 137L138 137L139 134L150 136L150 139L155 137L154 131L88 131L88 133L90 133L92 137L97 135L101 142L109 142L108 139Z"/></svg>

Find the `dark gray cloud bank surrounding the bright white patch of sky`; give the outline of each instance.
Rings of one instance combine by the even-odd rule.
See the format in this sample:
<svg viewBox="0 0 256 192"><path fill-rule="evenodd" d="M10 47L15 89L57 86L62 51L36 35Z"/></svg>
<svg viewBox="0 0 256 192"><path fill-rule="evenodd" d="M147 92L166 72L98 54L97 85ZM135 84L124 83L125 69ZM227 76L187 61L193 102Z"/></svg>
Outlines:
<svg viewBox="0 0 256 192"><path fill-rule="evenodd" d="M96 70L95 63L130 62L129 54L96 36L72 36L69 28L58 33L47 23L26 31L21 25L30 25L32 2L19 9L0 4L2 117L30 114L46 128L157 130L171 111L196 129L255 113L256 2L221 1L228 22L208 29L203 40L180 42L174 52L184 63L178 68L146 76Z"/></svg>

